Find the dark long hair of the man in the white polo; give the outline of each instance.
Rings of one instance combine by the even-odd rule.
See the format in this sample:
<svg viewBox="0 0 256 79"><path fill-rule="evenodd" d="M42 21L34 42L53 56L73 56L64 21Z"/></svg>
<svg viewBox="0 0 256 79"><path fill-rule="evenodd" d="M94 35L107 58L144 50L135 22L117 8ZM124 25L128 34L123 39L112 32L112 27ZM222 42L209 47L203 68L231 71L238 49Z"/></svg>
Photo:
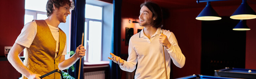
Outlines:
<svg viewBox="0 0 256 79"><path fill-rule="evenodd" d="M155 17L155 20L153 20L153 27L160 27L162 28L163 24L163 14L161 8L153 2L146 1L141 4L141 8L143 6L146 6L149 8L149 10L153 13L152 17Z"/></svg>

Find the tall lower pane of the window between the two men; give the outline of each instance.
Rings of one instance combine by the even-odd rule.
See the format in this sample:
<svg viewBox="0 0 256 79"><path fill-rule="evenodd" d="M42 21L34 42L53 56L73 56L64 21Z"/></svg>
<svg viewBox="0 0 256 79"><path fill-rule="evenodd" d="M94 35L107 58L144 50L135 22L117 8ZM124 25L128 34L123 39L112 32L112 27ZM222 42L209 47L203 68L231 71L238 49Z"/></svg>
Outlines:
<svg viewBox="0 0 256 79"><path fill-rule="evenodd" d="M88 62L101 61L102 23L89 21Z"/></svg>

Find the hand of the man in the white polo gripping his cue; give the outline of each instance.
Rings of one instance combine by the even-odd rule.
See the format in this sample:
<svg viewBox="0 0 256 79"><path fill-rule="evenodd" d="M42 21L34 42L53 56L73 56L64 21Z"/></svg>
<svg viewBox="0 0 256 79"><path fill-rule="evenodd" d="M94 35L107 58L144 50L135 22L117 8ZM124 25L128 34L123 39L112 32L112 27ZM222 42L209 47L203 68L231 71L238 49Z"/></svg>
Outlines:
<svg viewBox="0 0 256 79"><path fill-rule="evenodd" d="M161 43L163 46L166 47L166 49L169 49L171 47L171 43L169 42L168 38L166 35L164 35L163 33L161 33L159 35L159 43Z"/></svg>

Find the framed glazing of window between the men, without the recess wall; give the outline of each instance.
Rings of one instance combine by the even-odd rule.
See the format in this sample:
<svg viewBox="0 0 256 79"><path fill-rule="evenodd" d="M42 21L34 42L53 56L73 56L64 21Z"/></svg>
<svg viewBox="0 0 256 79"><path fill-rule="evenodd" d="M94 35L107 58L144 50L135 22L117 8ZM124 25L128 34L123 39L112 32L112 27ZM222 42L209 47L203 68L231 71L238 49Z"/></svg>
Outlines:
<svg viewBox="0 0 256 79"><path fill-rule="evenodd" d="M85 62L102 61L102 11L101 6L85 4Z"/></svg>

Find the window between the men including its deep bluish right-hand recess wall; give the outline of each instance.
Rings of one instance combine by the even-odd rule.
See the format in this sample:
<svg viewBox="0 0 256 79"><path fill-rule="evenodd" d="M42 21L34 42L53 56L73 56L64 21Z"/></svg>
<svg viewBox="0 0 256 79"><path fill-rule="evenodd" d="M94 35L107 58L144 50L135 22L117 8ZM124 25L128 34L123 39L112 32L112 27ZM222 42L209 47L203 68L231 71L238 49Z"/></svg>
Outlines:
<svg viewBox="0 0 256 79"><path fill-rule="evenodd" d="M109 63L113 25L113 4L86 0L85 4L85 65Z"/></svg>

